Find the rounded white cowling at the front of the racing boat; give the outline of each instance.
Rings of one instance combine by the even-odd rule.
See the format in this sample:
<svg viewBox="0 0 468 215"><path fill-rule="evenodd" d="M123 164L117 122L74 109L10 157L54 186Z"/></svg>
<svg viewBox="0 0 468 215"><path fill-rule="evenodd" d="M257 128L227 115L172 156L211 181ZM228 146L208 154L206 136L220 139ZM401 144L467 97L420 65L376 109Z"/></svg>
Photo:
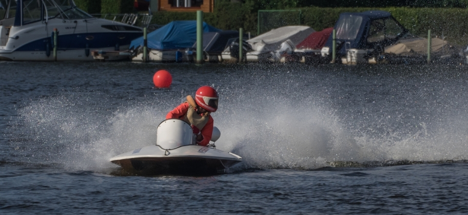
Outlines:
<svg viewBox="0 0 468 215"><path fill-rule="evenodd" d="M156 145L163 149L175 149L180 146L195 144L192 127L180 119L162 121L156 130Z"/></svg>

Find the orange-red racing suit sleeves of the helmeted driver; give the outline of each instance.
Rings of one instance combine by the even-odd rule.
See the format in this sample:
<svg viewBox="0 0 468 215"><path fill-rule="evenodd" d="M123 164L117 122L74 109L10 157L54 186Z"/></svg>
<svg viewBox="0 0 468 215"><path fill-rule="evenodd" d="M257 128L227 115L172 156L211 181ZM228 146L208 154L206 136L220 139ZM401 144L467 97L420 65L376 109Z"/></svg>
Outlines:
<svg viewBox="0 0 468 215"><path fill-rule="evenodd" d="M189 103L184 102L174 108L174 110L170 111L166 115L166 119L171 119L171 118L176 118L176 119L184 119L185 115L187 114L187 111L189 110ZM213 117L208 116L208 122L206 125L200 130L201 135L203 136L203 139L200 141L196 141L196 144L200 146L206 146L208 143L210 143L211 137L213 136L213 124L214 120Z"/></svg>

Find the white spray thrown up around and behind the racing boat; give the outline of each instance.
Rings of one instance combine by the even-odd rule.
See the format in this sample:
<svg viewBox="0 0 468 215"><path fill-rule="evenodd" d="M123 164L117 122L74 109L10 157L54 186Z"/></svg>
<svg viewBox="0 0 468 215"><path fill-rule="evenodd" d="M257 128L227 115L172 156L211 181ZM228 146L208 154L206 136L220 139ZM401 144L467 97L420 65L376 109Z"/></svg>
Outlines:
<svg viewBox="0 0 468 215"><path fill-rule="evenodd" d="M227 71L230 76L215 76L212 84L220 94L220 108L212 114L222 134L216 146L242 156L241 168L468 159L467 96L441 98L447 88L457 88L449 83L453 79L270 69ZM239 78L247 75L253 77ZM412 89L411 84L424 81L435 94ZM176 84L126 104L89 93L32 101L20 109L20 129L31 141L17 143L18 148L28 159L73 169L115 167L110 157L155 144L157 125L192 88ZM449 103L453 98L460 102ZM442 105L429 103L433 100Z"/></svg>

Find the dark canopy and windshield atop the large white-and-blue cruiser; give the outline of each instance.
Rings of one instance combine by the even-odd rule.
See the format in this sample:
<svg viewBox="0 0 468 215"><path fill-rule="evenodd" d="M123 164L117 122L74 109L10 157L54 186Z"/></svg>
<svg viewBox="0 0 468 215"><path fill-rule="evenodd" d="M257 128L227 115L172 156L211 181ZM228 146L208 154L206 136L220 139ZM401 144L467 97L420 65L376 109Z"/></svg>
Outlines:
<svg viewBox="0 0 468 215"><path fill-rule="evenodd" d="M0 0L0 16L2 22L5 20L8 23L7 20L11 20L14 26L53 18L64 20L93 18L78 9L73 0Z"/></svg>

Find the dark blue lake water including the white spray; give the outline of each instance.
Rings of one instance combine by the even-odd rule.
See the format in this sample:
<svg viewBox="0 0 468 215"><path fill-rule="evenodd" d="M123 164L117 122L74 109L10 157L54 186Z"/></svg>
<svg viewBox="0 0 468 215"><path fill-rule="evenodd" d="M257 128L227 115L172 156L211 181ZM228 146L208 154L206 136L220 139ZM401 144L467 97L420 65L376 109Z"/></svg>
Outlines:
<svg viewBox="0 0 468 215"><path fill-rule="evenodd" d="M173 76L157 89L157 70ZM466 214L466 65L0 62L0 214ZM128 175L202 85L218 176Z"/></svg>

